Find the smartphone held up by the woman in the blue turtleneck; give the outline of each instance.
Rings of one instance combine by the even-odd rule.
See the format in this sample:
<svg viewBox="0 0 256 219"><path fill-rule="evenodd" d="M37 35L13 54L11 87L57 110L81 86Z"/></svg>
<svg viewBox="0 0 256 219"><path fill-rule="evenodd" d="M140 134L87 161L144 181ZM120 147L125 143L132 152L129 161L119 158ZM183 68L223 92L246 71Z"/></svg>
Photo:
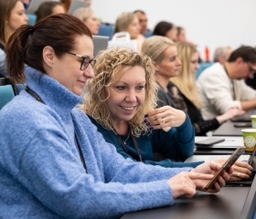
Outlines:
<svg viewBox="0 0 256 219"><path fill-rule="evenodd" d="M242 153L244 153L244 147L239 147L237 148L236 151L234 151L231 156L229 157L229 159L227 160L227 162L225 162L223 164L223 166L219 169L218 172L216 172L213 176L213 178L211 179L211 181L206 185L205 189L208 190L210 189L214 183L216 183L219 179L219 176L221 176L221 174L224 172L224 171L227 171L229 169L230 166L232 166L234 164L234 162L236 162L240 155Z"/></svg>

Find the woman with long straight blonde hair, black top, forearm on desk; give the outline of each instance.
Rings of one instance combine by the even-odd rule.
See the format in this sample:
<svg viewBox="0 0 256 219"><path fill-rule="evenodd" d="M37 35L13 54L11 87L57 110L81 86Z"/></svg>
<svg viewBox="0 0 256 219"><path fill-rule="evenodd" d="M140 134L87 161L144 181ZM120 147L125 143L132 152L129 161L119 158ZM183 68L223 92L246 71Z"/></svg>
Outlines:
<svg viewBox="0 0 256 219"><path fill-rule="evenodd" d="M171 78L173 83L169 87L176 107L188 113L192 121L197 135L205 135L209 130L215 130L220 124L233 118L234 116L243 114L243 110L230 109L222 115L211 120L203 120L200 112L201 101L197 93L197 84L195 72L198 68L198 53L193 45L180 42L176 44L178 58L182 65L180 73Z"/></svg>

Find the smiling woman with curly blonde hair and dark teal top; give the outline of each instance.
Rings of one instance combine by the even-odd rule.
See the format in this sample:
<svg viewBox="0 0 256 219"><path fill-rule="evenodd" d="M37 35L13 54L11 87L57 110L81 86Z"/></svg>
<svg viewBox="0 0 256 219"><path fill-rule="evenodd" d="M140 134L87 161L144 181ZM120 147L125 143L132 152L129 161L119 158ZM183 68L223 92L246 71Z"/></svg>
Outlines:
<svg viewBox="0 0 256 219"><path fill-rule="evenodd" d="M201 163L184 163L195 145L187 115L168 106L153 110L155 70L149 57L128 48L110 48L97 57L94 72L82 110L124 158L165 167ZM165 160L155 162L154 152Z"/></svg>

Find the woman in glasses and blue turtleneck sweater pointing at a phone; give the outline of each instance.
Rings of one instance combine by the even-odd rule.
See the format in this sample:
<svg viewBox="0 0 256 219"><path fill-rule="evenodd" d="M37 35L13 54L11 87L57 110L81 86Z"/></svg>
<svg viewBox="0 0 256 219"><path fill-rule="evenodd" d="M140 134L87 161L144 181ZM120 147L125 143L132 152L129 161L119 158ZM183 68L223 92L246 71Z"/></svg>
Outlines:
<svg viewBox="0 0 256 219"><path fill-rule="evenodd" d="M78 55L81 54L81 55ZM163 168L123 159L80 102L93 77L91 32L74 16L48 16L10 37L6 63L21 91L0 110L2 218L111 218L192 197L221 168ZM91 64L91 65L90 65ZM207 192L216 193L229 172Z"/></svg>

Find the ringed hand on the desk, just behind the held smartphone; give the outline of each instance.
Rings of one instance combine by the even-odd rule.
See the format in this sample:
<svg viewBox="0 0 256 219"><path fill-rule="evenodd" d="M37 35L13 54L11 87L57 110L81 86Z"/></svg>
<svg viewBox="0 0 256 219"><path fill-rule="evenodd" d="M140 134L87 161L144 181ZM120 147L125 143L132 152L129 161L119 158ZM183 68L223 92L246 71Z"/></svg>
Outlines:
<svg viewBox="0 0 256 219"><path fill-rule="evenodd" d="M226 162L227 159L221 159L219 162L221 165ZM251 177L251 171L253 168L247 162L237 161L232 165L233 172L230 174L229 181L241 181L248 180Z"/></svg>

